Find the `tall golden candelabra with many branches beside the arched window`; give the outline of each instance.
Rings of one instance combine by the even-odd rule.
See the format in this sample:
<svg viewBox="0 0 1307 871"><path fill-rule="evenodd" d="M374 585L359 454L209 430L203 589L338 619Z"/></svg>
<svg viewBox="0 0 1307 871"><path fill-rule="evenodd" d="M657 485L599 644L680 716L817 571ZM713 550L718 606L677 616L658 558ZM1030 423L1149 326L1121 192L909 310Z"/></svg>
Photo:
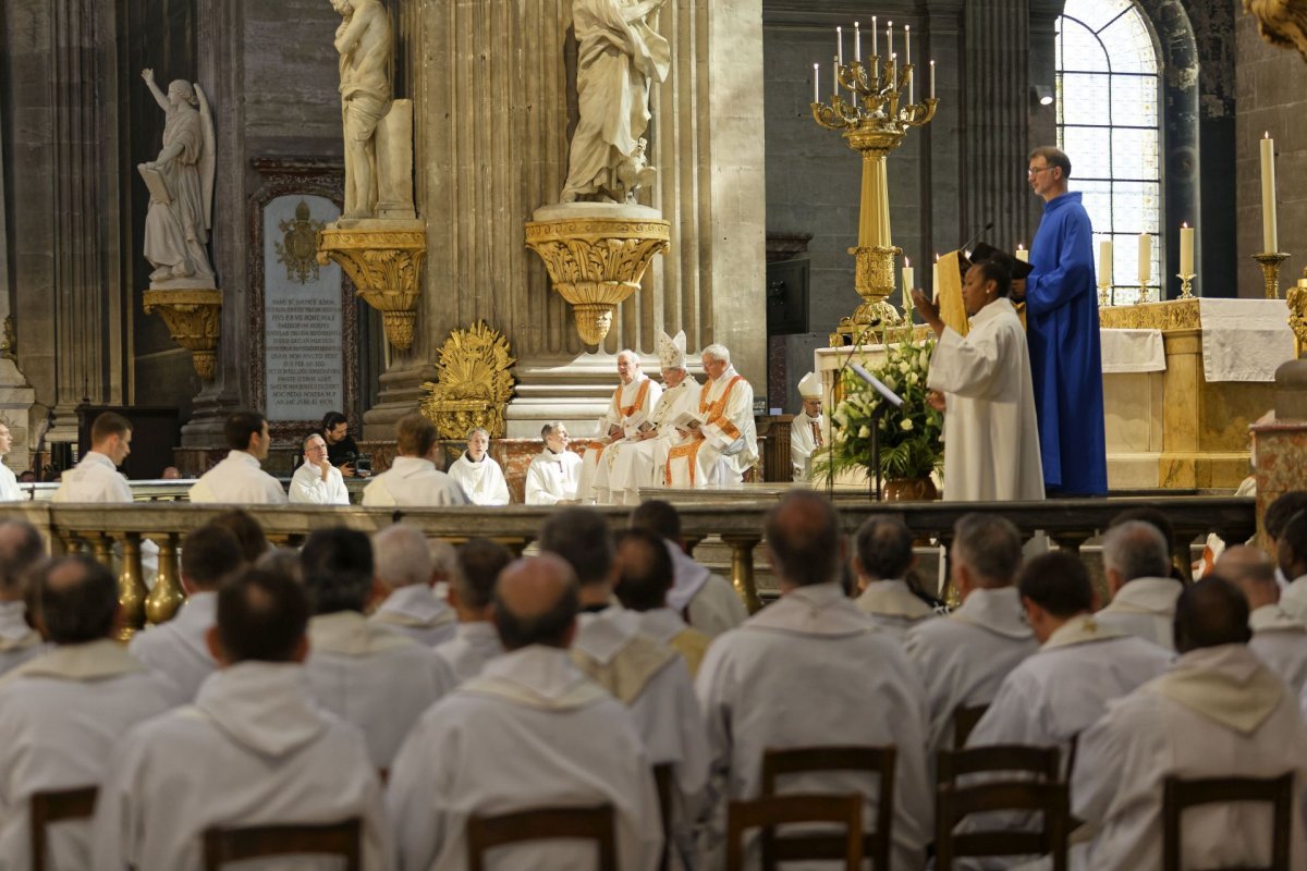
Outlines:
<svg viewBox="0 0 1307 871"><path fill-rule="evenodd" d="M830 102L813 102L817 124L843 131L848 146L863 155L863 189L857 218L857 247L850 248L856 273L855 287L863 298L852 317L843 317L831 333L831 343L856 336L870 326L893 326L903 317L889 302L894 293L895 260L903 253L890 236L890 198L885 159L903 144L908 128L924 127L935 118L932 68L931 95L912 102L912 64L898 65L891 55L872 55L867 63L835 61L836 84ZM847 91L850 99L842 94Z"/></svg>

